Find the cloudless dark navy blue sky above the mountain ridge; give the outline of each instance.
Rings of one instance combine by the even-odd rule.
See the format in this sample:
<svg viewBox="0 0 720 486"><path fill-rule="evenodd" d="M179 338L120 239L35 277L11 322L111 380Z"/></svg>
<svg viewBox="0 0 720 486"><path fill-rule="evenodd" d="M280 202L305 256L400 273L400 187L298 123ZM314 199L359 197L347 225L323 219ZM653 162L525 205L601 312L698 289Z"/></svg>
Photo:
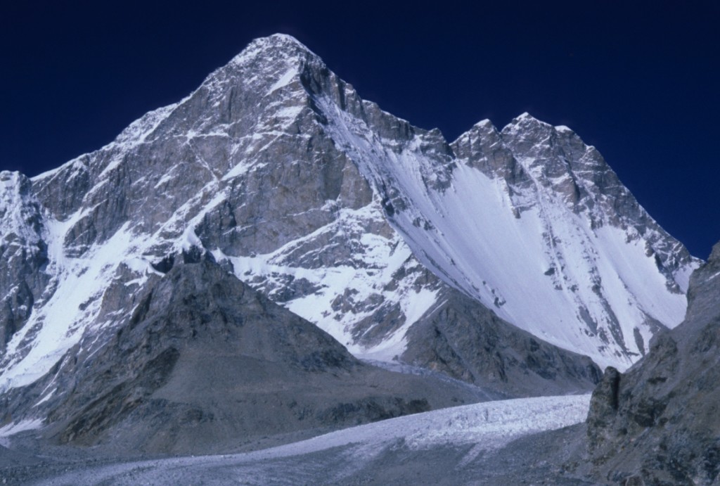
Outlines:
<svg viewBox="0 0 720 486"><path fill-rule="evenodd" d="M0 169L30 176L284 32L365 99L453 140L568 125L691 253L720 240L716 1L24 1L0 6Z"/></svg>

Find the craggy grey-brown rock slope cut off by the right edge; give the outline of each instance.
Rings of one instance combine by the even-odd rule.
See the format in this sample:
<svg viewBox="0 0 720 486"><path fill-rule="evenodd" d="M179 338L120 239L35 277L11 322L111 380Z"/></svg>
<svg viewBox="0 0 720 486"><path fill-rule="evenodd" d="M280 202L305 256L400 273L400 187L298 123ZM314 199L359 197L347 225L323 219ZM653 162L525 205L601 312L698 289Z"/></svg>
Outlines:
<svg viewBox="0 0 720 486"><path fill-rule="evenodd" d="M720 472L720 245L693 273L688 315L625 374L593 392L588 443L598 477L716 484Z"/></svg>

